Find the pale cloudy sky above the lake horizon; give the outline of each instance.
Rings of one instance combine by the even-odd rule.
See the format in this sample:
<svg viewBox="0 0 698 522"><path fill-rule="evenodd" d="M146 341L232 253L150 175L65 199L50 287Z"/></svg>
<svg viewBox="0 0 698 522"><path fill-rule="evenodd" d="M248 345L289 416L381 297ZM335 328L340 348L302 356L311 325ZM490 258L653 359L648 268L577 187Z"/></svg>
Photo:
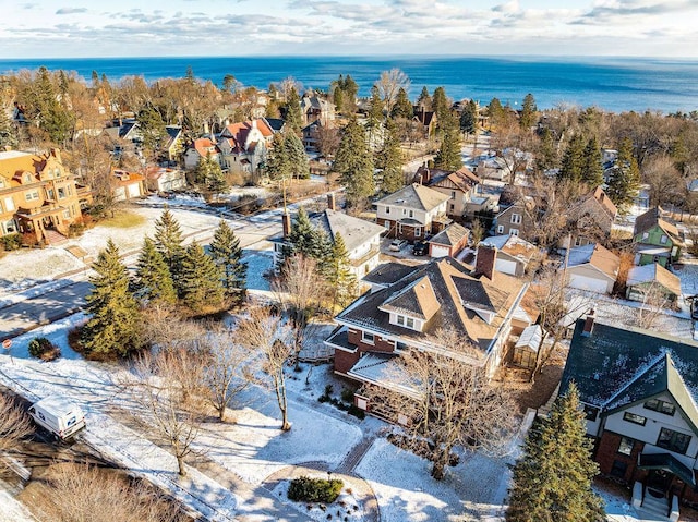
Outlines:
<svg viewBox="0 0 698 522"><path fill-rule="evenodd" d="M698 0L8 0L0 58L696 58Z"/></svg>

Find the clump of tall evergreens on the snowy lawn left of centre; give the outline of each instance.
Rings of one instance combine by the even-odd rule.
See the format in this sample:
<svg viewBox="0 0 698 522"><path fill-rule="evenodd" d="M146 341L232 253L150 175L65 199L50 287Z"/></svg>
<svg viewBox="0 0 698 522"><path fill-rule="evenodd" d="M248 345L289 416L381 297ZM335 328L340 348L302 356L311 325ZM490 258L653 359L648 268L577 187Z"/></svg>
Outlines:
<svg viewBox="0 0 698 522"><path fill-rule="evenodd" d="M109 240L89 279L94 288L87 295L91 318L81 332L84 350L119 355L139 350L141 311L147 306L181 305L189 314L202 315L244 302L248 266L226 221L220 221L208 250L196 242L184 246L168 209L155 223L154 239L145 238L133 278Z"/></svg>

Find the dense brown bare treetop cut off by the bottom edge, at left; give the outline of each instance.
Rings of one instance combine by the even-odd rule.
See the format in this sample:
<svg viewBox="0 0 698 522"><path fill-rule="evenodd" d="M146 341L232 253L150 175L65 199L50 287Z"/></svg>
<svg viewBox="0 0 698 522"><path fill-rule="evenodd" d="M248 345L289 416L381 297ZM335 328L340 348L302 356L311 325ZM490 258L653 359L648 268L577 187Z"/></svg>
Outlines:
<svg viewBox="0 0 698 522"><path fill-rule="evenodd" d="M41 510L55 522L180 522L178 507L140 481L111 470L73 462L51 468L48 505Z"/></svg>

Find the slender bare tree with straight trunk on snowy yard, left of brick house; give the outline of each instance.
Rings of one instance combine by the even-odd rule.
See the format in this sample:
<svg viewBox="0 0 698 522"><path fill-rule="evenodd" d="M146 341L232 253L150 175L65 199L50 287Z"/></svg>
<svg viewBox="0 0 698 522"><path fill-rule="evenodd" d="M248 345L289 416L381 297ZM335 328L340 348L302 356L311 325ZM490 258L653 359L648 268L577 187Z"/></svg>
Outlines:
<svg viewBox="0 0 698 522"><path fill-rule="evenodd" d="M293 353L290 328L269 308L252 308L240 320L236 337L241 345L256 353L260 369L266 375L264 383L274 390L281 412L281 429L291 429L288 422L288 400L286 397L286 367Z"/></svg>

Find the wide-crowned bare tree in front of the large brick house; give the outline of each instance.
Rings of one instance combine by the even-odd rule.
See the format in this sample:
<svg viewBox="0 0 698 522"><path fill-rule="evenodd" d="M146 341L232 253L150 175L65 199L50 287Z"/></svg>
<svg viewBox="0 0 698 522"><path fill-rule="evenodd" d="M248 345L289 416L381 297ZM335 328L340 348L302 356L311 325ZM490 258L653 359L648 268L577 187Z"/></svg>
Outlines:
<svg viewBox="0 0 698 522"><path fill-rule="evenodd" d="M453 337L446 335L447 337ZM450 345L468 359L478 350L460 339ZM399 412L410 445L425 446L433 462L431 474L445 476L454 447L482 449L494 454L509 450L516 410L508 392L490 386L482 367L447 353L410 351L393 360L386 371L388 385L372 387L369 396Z"/></svg>

